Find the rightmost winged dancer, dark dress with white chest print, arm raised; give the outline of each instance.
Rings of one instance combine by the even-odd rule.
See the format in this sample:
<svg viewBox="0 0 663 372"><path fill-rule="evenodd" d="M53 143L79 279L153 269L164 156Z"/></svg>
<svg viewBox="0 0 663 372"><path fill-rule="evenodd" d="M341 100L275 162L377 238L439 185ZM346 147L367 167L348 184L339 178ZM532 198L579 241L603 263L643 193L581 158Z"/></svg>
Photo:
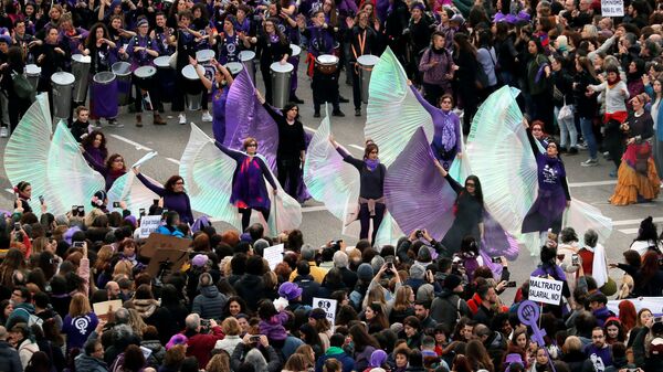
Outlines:
<svg viewBox="0 0 663 372"><path fill-rule="evenodd" d="M524 125L529 129L527 123ZM546 153L541 153L532 130L527 130L527 138L536 158L539 189L534 204L525 215L522 232L538 232L541 234L541 242L545 242L548 228L556 234L561 230L564 210L570 205L571 195L564 162L558 157L557 144L550 140L546 147Z"/></svg>

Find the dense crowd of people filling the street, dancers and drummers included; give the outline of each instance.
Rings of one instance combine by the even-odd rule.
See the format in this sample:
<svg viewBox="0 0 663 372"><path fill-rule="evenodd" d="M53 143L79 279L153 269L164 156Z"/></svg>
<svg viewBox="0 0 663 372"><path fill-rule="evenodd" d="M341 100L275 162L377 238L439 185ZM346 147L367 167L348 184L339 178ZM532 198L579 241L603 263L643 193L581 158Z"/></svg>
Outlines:
<svg viewBox="0 0 663 372"><path fill-rule="evenodd" d="M185 105L201 106L202 120L213 123L214 146L236 162L230 203L242 215L242 232L194 220L181 176L161 187L138 167L136 178L160 199L140 215L124 202L109 205L107 191L127 167L120 155L109 155L104 132L92 129L101 128L99 119L124 124L117 107L108 107L108 92L91 86L87 107L72 103L70 128L105 190L88 205L54 215L50 201L33 195L31 180L22 180L0 221L0 371L663 371L659 309L636 310L632 301L663 296L663 235L644 219L623 263L609 263L597 231L562 226L571 196L560 157L587 150L581 164L594 167L601 152L618 179L612 204L657 196L662 21L660 0L627 1L620 18L601 17L592 0L7 1L0 137L13 134L30 107L27 65L41 67L36 91L52 97L51 77L71 71L72 55L90 56L90 77L116 62L136 71L166 56L171 78L133 77L127 92L135 124L143 126L146 109L155 125L165 125L164 103L186 124ZM266 234L251 224L252 210L271 221L270 190L276 194L287 184L293 198L301 192L304 102L294 74L291 103L275 110L270 73L273 63L297 71L299 46L315 117L325 102L333 115L345 116L343 77L352 86L355 115L362 115L359 57L389 47L404 67L434 125L431 167L457 195L452 227L440 241L418 228L378 246L389 171L379 144L367 140L364 159L356 159L332 136L330 146L359 173L360 241L313 247L299 230ZM213 75L198 70L197 52L206 50L213 52ZM277 126L277 177L256 157L267 144L245 138L230 148L224 138L236 77L228 63L240 62L242 51L256 53L254 73L264 86L264 97L257 89L249 94ZM188 66L198 82L181 74ZM517 315L529 284L509 280L506 257L484 254L488 220L480 179L450 176L478 106L505 85L522 91L527 150L537 166L539 191L522 226L541 237L532 276L564 283L560 302L541 307L544 334ZM189 102L194 94L199 102ZM157 234L187 240L181 269L148 274L150 257L138 236L144 215L162 216ZM271 268L264 252L277 244L283 262ZM609 273L618 269L624 274L615 280ZM501 298L514 286L513 299ZM620 300L617 309L608 308L609 296ZM314 298L335 300L335 311ZM122 306L95 310L110 300Z"/></svg>

